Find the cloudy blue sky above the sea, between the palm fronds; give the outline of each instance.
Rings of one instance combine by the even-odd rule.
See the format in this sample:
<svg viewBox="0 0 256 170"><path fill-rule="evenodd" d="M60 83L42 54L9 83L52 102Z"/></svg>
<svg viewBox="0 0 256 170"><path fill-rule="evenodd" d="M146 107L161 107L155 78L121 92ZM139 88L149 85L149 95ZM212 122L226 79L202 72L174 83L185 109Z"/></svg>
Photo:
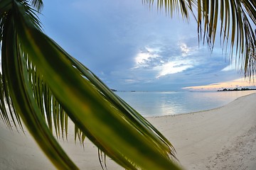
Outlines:
<svg viewBox="0 0 256 170"><path fill-rule="evenodd" d="M198 43L194 18L171 18L142 0L44 1L40 18L44 33L111 89L191 91L216 84L217 89L253 85L241 84L245 82L219 40L212 52Z"/></svg>

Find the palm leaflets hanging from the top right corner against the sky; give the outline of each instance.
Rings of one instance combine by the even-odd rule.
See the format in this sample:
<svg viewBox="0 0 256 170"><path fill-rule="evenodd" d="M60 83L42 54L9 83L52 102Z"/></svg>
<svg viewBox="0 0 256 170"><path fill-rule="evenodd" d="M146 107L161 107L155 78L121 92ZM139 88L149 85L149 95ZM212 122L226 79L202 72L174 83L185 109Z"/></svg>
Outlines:
<svg viewBox="0 0 256 170"><path fill-rule="evenodd" d="M153 0L143 3L153 4ZM254 0L158 0L158 8L166 12L178 11L188 17L188 11L198 23L198 40L208 43L213 50L216 33L220 33L223 47L230 46L230 59L235 62L245 77L255 75L256 60L256 3ZM178 6L176 4L179 4ZM223 48L224 49L224 48Z"/></svg>

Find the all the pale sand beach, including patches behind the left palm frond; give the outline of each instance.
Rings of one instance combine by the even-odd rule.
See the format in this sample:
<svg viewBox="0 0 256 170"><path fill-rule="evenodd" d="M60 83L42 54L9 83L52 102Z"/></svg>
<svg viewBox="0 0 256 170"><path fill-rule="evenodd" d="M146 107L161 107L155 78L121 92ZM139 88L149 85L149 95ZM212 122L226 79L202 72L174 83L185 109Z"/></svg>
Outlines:
<svg viewBox="0 0 256 170"><path fill-rule="evenodd" d="M174 145L183 169L256 169L256 94L221 108L148 118ZM97 148L60 141L80 169L101 169ZM107 160L108 169L122 169ZM0 169L55 169L26 132L10 132L0 120Z"/></svg>

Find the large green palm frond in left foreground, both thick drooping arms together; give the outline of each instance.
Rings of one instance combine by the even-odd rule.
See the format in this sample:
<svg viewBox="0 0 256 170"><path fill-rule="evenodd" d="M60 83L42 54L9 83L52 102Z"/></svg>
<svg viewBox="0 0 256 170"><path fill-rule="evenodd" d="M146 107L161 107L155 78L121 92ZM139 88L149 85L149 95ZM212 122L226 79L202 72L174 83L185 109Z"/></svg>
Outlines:
<svg viewBox="0 0 256 170"><path fill-rule="evenodd" d="M178 169L171 143L38 25L26 2L13 1L3 24L3 82L6 98L53 164L77 168L52 135L69 117L78 138L86 135L126 169Z"/></svg>

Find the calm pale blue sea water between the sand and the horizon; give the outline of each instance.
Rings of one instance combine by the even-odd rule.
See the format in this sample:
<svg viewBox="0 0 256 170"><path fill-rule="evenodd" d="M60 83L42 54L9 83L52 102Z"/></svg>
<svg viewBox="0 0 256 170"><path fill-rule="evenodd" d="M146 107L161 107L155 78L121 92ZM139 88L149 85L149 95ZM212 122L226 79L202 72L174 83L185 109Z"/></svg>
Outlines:
<svg viewBox="0 0 256 170"><path fill-rule="evenodd" d="M130 92L117 91L119 97L146 117L177 115L218 108L240 96L255 91L204 91L204 92Z"/></svg>

